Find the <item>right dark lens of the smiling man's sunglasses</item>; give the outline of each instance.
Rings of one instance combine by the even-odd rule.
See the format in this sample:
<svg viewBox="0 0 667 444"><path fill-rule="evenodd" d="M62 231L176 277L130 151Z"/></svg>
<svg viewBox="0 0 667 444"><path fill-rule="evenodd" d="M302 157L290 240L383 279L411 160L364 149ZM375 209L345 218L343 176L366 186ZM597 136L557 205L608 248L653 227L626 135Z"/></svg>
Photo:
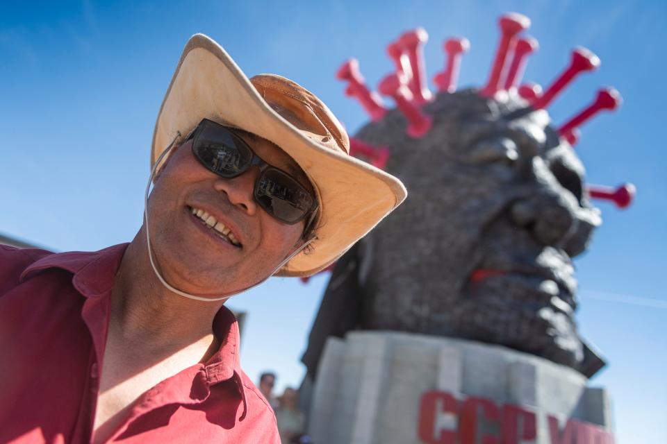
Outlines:
<svg viewBox="0 0 667 444"><path fill-rule="evenodd" d="M297 223L313 207L313 196L299 182L271 168L258 179L255 198L264 210L285 223Z"/></svg>

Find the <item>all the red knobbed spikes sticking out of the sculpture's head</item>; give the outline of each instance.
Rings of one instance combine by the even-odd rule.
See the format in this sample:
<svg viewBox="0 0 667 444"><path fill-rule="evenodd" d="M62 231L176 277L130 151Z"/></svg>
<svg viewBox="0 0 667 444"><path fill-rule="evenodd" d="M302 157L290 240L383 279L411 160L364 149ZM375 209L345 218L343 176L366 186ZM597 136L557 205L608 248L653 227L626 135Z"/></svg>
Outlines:
<svg viewBox="0 0 667 444"><path fill-rule="evenodd" d="M537 51L538 42L533 37L520 36L530 26L530 20L524 15L508 13L500 17L500 42L491 67L486 86L479 94L495 96L504 89L517 88L525 70L527 57ZM387 46L388 56L395 65L395 74L386 76L379 84L379 92L392 96L397 107L408 121L407 133L411 137L422 137L431 128L432 119L420 110L420 106L432 99L425 80L425 62L423 46L428 34L423 28L416 28L403 33L395 42ZM445 69L434 77L438 92L456 91L456 82L463 53L470 49L470 42L465 38L450 38L443 44L447 56ZM511 57L510 57L511 55ZM510 60L509 65L507 60ZM536 83L524 83L517 88L519 96L525 99L535 110L550 105L563 90L586 71L593 71L600 66L600 59L586 48L577 47L572 52L570 65L542 93L542 87ZM504 77L503 77L504 76ZM373 121L382 119L387 110L376 92L371 92L359 72L359 62L350 59L343 64L336 77L346 80L345 94L353 96L370 114ZM620 94L613 88L601 89L591 105L567 121L558 129L559 134L570 145L577 144L581 133L579 127L601 110L615 110L622 102ZM367 157L376 167L383 168L389 156L386 148L376 148L350 139L350 151ZM610 191L611 190L611 191ZM626 207L634 196L634 186L625 185L616 190L609 187L589 189L592 198L614 200L619 207Z"/></svg>

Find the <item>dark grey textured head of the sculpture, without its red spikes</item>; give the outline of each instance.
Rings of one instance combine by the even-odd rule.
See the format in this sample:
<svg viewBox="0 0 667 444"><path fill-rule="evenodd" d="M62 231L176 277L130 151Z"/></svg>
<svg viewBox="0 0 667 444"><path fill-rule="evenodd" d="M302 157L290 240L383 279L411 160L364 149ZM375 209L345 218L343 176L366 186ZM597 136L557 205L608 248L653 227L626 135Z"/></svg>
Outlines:
<svg viewBox="0 0 667 444"><path fill-rule="evenodd" d="M356 135L386 146L409 198L361 241L361 327L474 339L582 368L571 258L600 214L584 167L516 96L472 89L425 105L429 133L397 110Z"/></svg>

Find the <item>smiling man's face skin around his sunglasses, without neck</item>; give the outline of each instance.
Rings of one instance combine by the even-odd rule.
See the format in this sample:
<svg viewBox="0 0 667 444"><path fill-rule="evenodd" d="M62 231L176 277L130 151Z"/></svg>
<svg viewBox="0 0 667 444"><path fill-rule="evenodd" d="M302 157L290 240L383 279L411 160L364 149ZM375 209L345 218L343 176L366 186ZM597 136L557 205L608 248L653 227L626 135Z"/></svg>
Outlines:
<svg viewBox="0 0 667 444"><path fill-rule="evenodd" d="M284 151L265 139L240 133L265 162L311 185ZM288 225L267 214L253 196L258 167L226 179L208 171L192 153L192 140L158 174L149 198L151 246L168 282L211 296L261 282L299 245L304 222ZM221 235L193 210L202 210L231 230ZM238 241L240 245L234 245Z"/></svg>

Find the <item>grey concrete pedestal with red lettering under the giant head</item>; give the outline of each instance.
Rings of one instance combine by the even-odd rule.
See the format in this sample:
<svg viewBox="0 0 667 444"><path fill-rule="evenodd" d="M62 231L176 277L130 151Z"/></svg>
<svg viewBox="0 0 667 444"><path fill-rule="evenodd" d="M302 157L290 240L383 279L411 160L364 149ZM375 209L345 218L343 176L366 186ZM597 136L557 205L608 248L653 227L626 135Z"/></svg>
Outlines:
<svg viewBox="0 0 667 444"><path fill-rule="evenodd" d="M309 433L317 444L611 442L607 393L586 382L498 345L350 332L324 348Z"/></svg>

